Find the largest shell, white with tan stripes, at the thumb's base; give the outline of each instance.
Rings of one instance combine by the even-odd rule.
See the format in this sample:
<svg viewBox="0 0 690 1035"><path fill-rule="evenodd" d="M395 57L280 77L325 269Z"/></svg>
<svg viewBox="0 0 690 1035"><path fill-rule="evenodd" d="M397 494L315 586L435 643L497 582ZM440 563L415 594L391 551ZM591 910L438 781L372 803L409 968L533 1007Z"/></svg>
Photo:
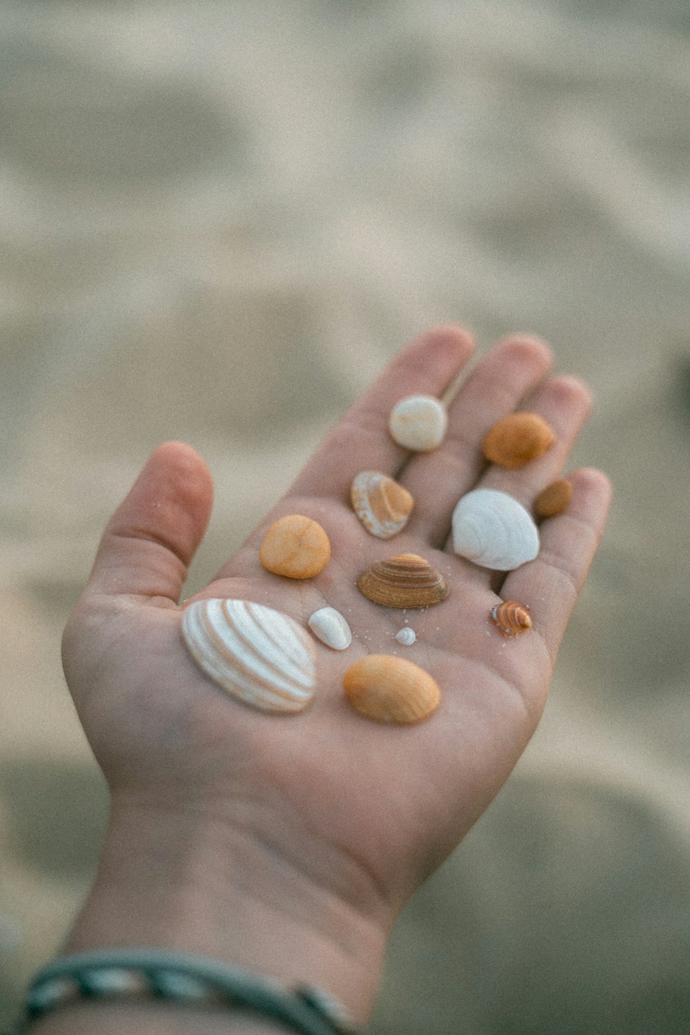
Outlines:
<svg viewBox="0 0 690 1035"><path fill-rule="evenodd" d="M298 712L317 686L314 647L288 615L249 600L194 600L182 637L214 683L263 711Z"/></svg>

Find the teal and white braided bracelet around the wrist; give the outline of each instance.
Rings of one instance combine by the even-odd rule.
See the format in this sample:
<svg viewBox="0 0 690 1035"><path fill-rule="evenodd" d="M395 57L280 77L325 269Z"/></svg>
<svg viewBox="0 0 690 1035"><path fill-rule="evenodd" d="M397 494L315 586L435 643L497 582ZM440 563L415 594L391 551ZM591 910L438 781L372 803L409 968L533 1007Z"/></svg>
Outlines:
<svg viewBox="0 0 690 1035"><path fill-rule="evenodd" d="M152 948L100 949L53 960L29 987L17 1035L67 1003L143 998L235 1006L279 1021L299 1035L357 1035L340 1004L320 988L288 988L207 956Z"/></svg>

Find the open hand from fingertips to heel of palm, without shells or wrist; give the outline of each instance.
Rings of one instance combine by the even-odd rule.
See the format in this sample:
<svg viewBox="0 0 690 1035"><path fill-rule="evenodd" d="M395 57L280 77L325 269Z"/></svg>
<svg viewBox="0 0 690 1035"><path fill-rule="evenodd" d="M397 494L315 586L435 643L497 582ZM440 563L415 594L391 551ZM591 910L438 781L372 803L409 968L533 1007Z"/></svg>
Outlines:
<svg viewBox="0 0 690 1035"><path fill-rule="evenodd" d="M395 912L457 845L515 765L541 714L568 617L594 556L608 501L606 479L572 472L567 511L543 523L535 561L497 575L456 557L450 518L477 485L502 489L528 507L559 477L590 408L572 378L547 377L548 350L514 336L499 343L460 383L449 431L431 453L410 454L387 431L393 404L416 392L442 395L471 353L457 328L425 334L354 405L289 492L198 597L276 608L301 624L331 605L353 643L316 643L318 690L298 715L258 712L224 694L190 660L178 604L187 565L211 505L210 475L187 446L168 443L150 459L103 536L89 584L65 633L67 680L114 796L147 807L213 809L319 882L371 892ZM487 466L480 443L499 418L535 410L554 446L517 471ZM349 502L364 469L384 471L416 505L394 539L370 536ZM286 513L327 531L331 561L312 580L265 571L259 545ZM357 573L398 553L420 554L450 587L442 603L402 614L365 599ZM501 598L528 603L529 634L505 640L489 621ZM412 647L394 639L403 619ZM344 670L366 653L398 653L428 671L439 710L412 727L354 712Z"/></svg>

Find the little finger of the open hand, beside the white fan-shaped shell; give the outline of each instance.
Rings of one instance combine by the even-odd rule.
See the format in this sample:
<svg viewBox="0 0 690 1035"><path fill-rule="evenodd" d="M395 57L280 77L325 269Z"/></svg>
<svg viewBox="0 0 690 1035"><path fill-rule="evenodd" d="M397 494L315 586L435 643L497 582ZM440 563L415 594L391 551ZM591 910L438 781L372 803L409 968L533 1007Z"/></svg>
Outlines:
<svg viewBox="0 0 690 1035"><path fill-rule="evenodd" d="M573 485L568 509L542 523L539 556L511 571L501 589L504 600L530 605L534 628L553 659L601 540L611 497L608 478L595 468L568 478Z"/></svg>

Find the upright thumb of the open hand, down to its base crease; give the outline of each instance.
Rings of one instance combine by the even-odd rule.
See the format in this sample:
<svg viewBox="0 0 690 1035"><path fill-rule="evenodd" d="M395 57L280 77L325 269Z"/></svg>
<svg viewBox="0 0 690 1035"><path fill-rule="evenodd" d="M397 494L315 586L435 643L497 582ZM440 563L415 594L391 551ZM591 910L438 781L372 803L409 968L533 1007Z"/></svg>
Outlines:
<svg viewBox="0 0 690 1035"><path fill-rule="evenodd" d="M109 522L85 592L177 603L212 499L211 473L196 449L158 446Z"/></svg>

